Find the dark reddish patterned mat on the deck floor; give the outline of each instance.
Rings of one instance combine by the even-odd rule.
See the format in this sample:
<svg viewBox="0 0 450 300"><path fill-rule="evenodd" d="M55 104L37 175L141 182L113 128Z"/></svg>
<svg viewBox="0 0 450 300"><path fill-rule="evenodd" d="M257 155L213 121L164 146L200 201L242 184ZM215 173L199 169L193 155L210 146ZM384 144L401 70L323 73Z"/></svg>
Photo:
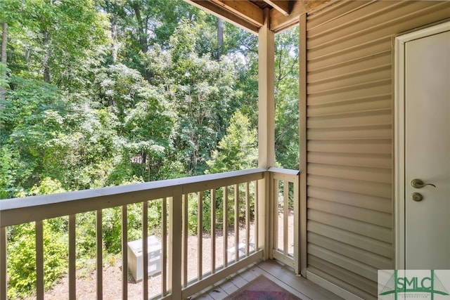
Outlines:
<svg viewBox="0 0 450 300"><path fill-rule="evenodd" d="M290 292L269 280L264 275L248 282L233 294L227 296L227 300L301 300Z"/></svg>

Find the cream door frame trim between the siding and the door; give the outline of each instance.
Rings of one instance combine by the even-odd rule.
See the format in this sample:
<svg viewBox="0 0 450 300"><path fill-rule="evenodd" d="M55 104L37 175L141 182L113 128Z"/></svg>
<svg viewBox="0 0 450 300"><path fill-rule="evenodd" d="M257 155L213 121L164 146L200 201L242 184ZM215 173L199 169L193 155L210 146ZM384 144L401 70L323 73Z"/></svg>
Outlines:
<svg viewBox="0 0 450 300"><path fill-rule="evenodd" d="M405 268L405 44L450 30L450 21L394 39L394 258L395 268Z"/></svg>

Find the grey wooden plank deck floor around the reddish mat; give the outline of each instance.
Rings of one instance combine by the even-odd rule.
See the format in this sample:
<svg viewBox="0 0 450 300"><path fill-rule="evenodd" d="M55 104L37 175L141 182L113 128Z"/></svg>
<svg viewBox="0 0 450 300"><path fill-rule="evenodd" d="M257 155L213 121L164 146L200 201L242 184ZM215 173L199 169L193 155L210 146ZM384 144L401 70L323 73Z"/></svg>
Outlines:
<svg viewBox="0 0 450 300"><path fill-rule="evenodd" d="M302 300L337 300L342 299L340 296L329 292L314 282L311 282L300 276L296 276L293 268L285 266L275 260L261 261L254 265L248 266L239 273L230 276L229 279L217 282L216 285L202 292L195 294L191 300L219 300L224 299L229 294L236 292L248 282L264 275L266 278L276 282L277 285L283 287L287 291L300 297Z"/></svg>

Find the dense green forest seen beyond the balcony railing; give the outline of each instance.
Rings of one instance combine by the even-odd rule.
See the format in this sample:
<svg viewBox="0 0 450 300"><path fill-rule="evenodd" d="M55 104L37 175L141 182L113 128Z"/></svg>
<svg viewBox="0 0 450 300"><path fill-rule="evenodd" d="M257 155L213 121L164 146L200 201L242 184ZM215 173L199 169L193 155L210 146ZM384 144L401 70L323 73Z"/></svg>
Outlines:
<svg viewBox="0 0 450 300"><path fill-rule="evenodd" d="M257 36L181 0L3 0L0 26L0 199L257 166ZM289 169L297 37L276 36L276 161ZM56 252L63 223L48 229ZM27 230L8 232L12 266ZM24 276L9 276L11 296L29 292Z"/></svg>

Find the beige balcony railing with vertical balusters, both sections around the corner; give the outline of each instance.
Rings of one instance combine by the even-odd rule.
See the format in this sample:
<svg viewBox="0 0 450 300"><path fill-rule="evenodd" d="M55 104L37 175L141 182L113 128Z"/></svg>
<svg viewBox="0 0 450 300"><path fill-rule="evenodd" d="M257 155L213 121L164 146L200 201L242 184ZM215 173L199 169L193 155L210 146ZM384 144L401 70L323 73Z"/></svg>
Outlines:
<svg viewBox="0 0 450 300"><path fill-rule="evenodd" d="M8 288L7 228L34 223L36 242L36 295L44 299L44 223L57 217L68 218L68 298L77 296L76 227L77 216L94 211L96 222L96 298L103 298L103 211L120 207L122 211L122 299L128 297L128 207L141 204L141 238L148 238L148 207L161 205L161 280L156 294L149 294L148 274L143 272L143 299L186 299L205 287L226 278L259 259L270 257L290 264L298 273L298 171L271 168L232 171L136 185L96 190L79 190L20 199L0 200L0 300ZM269 195L257 195L258 185L270 186ZM196 201L196 228L190 228L188 203ZM271 209L268 223L259 223L262 204ZM203 215L207 207L210 227L205 230ZM221 218L219 218L221 214ZM294 231L292 230L294 228ZM264 230L261 233L260 230ZM209 231L208 244L204 244ZM293 233L290 233L292 232ZM188 249L189 232L196 232L196 259ZM259 237L270 235L269 244ZM203 252L208 247L209 256ZM271 248L270 248L271 247ZM273 250L270 250L273 249ZM270 252L264 256L264 251ZM220 255L217 255L220 254ZM148 269L148 244L142 242L142 270ZM220 257L219 257L220 256ZM120 295L117 295L120 297Z"/></svg>

